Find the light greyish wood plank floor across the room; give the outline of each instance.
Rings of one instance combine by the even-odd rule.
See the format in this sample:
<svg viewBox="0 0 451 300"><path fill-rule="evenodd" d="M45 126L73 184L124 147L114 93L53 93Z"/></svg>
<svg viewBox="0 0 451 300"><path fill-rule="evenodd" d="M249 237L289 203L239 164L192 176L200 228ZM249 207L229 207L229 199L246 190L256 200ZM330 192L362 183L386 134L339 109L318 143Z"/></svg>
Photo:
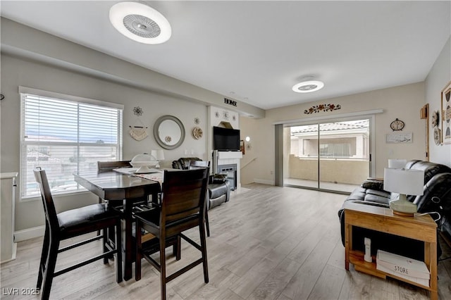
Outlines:
<svg viewBox="0 0 451 300"><path fill-rule="evenodd" d="M168 299L428 299L424 289L347 272L337 211L346 196L292 187L246 185L232 199L209 211L207 238L209 278L202 266L168 283ZM198 232L190 231L198 239ZM42 238L18 243L16 261L1 265L2 299L8 291L34 288ZM443 244L444 246L444 244ZM61 254L58 266L99 251L92 243L82 251ZM444 256L450 255L445 249ZM199 251L183 244L182 260L173 256L171 270ZM54 280L51 299L159 299L159 273L142 262L142 280L117 284L114 263L86 265ZM439 299L451 299L451 260L438 263Z"/></svg>

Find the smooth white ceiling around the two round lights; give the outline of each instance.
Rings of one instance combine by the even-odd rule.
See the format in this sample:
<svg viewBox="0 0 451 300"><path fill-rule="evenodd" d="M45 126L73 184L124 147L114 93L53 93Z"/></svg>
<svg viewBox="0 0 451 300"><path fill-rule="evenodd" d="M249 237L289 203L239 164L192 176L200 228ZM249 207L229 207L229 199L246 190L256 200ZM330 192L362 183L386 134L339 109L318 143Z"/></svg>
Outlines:
<svg viewBox="0 0 451 300"><path fill-rule="evenodd" d="M119 1L4 1L1 16L259 108L420 82L451 32L450 1L145 1L159 45L109 23ZM314 75L319 92L292 86Z"/></svg>

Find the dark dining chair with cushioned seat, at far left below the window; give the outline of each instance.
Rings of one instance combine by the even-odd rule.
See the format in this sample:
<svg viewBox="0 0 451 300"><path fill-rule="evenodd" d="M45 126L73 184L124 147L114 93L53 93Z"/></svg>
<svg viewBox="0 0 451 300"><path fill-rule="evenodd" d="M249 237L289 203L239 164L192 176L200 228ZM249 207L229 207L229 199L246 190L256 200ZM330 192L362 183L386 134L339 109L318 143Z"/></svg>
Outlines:
<svg viewBox="0 0 451 300"><path fill-rule="evenodd" d="M45 214L45 235L42 245L39 273L37 275L37 289L40 289L42 299L49 299L51 284L54 277L67 273L75 268L104 259L108 263L108 257L116 254L116 282L123 280L122 275L122 245L121 245L121 214L118 211L108 209L106 204L93 204L81 208L71 209L56 213L54 199L51 196L49 181L45 170L35 168L35 180L41 191L42 204ZM106 228L116 227L116 240L111 240L106 234ZM60 242L90 232L102 230L104 235L97 235L82 242L70 244L60 248ZM55 271L58 253L74 249L89 242L103 239L103 253L92 258L71 265L68 268ZM76 254L75 254L76 255ZM41 289L42 288L42 289Z"/></svg>

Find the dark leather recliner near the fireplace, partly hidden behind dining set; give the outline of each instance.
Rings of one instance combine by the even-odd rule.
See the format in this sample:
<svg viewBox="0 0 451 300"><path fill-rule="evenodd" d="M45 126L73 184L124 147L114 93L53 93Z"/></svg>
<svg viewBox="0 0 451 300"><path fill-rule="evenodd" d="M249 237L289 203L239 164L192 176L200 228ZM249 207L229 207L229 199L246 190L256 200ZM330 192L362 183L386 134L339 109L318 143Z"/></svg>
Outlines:
<svg viewBox="0 0 451 300"><path fill-rule="evenodd" d="M197 157L183 157L177 161L172 162L172 168L187 170L190 165L190 161L202 161ZM207 193L206 208L214 208L221 205L224 202L230 200L230 184L225 175L214 174L210 175L208 193Z"/></svg>

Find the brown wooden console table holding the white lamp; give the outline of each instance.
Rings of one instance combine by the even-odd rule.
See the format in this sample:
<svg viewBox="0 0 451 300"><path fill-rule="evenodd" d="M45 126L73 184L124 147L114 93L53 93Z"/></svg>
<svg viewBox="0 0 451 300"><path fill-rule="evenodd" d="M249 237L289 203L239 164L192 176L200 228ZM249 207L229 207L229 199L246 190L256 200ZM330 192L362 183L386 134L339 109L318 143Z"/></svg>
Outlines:
<svg viewBox="0 0 451 300"><path fill-rule="evenodd" d="M406 280L396 275L376 269L376 258L373 262L364 261L362 251L352 250L352 226L386 232L391 235L408 237L424 242L424 262L431 273L429 287ZM394 215L390 208L362 204L347 204L345 206L345 268L349 270L350 263L355 270L377 277L393 277L431 292L431 299L438 298L437 292L437 225L431 215L415 215L404 217Z"/></svg>

